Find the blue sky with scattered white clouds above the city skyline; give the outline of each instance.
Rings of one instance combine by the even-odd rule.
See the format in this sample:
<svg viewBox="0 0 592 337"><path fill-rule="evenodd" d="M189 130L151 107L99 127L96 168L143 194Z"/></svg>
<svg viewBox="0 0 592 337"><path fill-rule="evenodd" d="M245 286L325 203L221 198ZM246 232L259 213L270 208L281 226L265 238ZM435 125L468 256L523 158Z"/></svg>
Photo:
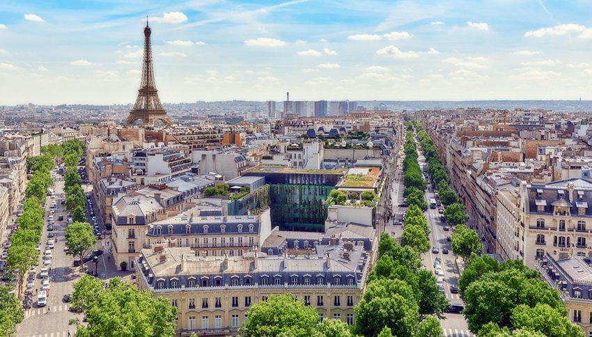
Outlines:
<svg viewBox="0 0 592 337"><path fill-rule="evenodd" d="M0 104L592 100L592 1L11 1Z"/></svg>

